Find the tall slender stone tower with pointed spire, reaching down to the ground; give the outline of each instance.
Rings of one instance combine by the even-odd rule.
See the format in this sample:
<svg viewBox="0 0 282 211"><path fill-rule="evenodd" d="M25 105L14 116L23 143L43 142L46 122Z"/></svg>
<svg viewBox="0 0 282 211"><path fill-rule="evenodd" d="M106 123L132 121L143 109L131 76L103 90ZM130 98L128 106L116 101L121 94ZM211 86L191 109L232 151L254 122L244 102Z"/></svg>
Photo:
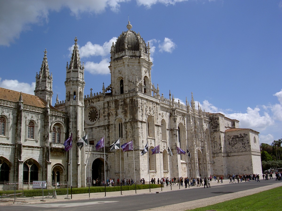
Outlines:
<svg viewBox="0 0 282 211"><path fill-rule="evenodd" d="M70 64L66 67L66 101L65 109L69 115L69 128L72 132L72 184L81 187L81 151L76 145L76 142L84 135L84 65L80 62L78 53L77 39L75 38L74 50ZM69 159L71 158L69 151ZM70 169L69 169L70 172ZM70 173L69 173L70 181ZM83 178L85 183L85 179Z"/></svg>

